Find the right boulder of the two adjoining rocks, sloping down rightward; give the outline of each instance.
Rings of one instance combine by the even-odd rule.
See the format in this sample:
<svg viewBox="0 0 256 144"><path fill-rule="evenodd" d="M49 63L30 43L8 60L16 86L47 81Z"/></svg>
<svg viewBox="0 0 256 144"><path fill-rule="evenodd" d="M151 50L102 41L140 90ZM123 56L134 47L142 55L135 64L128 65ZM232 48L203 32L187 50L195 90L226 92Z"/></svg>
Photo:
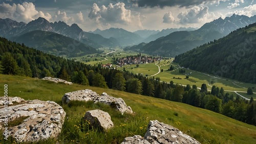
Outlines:
<svg viewBox="0 0 256 144"><path fill-rule="evenodd" d="M95 103L97 102L114 105L116 109L118 109L121 113L133 113L132 108L130 106L127 106L122 98L111 97L106 93L102 93L100 96L98 96L95 100Z"/></svg>

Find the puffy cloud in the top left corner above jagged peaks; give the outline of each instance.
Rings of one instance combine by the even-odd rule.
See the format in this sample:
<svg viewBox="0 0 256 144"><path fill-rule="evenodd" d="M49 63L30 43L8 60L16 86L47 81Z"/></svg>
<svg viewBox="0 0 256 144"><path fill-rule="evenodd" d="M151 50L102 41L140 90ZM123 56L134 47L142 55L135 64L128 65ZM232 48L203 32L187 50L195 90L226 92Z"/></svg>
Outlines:
<svg viewBox="0 0 256 144"><path fill-rule="evenodd" d="M47 20L51 18L49 13L37 11L33 3L24 2L23 4L0 4L0 16L8 17L17 21L29 22L37 19L38 17L44 17Z"/></svg>

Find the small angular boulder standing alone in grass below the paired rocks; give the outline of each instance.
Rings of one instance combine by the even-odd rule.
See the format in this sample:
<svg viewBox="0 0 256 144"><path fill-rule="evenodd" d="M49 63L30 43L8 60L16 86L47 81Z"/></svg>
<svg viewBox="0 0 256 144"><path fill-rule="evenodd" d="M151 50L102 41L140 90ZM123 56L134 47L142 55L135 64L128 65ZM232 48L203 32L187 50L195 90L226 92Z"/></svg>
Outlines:
<svg viewBox="0 0 256 144"><path fill-rule="evenodd" d="M91 126L96 125L104 130L108 130L114 126L110 114L99 109L87 111L83 119L84 121L90 122Z"/></svg>

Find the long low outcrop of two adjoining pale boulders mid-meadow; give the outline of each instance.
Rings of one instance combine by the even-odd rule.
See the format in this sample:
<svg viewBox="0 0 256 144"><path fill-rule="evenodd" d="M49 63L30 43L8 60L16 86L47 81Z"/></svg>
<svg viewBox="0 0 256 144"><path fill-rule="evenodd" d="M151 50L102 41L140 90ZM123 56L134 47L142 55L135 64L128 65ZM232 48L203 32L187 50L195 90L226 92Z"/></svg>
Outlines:
<svg viewBox="0 0 256 144"><path fill-rule="evenodd" d="M133 113L130 106L127 106L122 98L111 97L106 93L102 93L100 96L92 90L80 90L75 92L66 93L62 97L62 103L69 103L70 101L94 101L95 103L100 102L108 105L115 106L122 114Z"/></svg>

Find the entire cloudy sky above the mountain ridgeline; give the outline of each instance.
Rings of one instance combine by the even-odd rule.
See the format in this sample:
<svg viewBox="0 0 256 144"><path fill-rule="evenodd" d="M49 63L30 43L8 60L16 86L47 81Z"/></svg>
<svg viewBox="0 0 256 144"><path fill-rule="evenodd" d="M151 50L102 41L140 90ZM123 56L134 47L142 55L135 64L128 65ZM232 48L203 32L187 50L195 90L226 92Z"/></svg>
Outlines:
<svg viewBox="0 0 256 144"><path fill-rule="evenodd" d="M232 14L256 15L256 0L0 0L0 18L77 23L83 31L201 27Z"/></svg>

